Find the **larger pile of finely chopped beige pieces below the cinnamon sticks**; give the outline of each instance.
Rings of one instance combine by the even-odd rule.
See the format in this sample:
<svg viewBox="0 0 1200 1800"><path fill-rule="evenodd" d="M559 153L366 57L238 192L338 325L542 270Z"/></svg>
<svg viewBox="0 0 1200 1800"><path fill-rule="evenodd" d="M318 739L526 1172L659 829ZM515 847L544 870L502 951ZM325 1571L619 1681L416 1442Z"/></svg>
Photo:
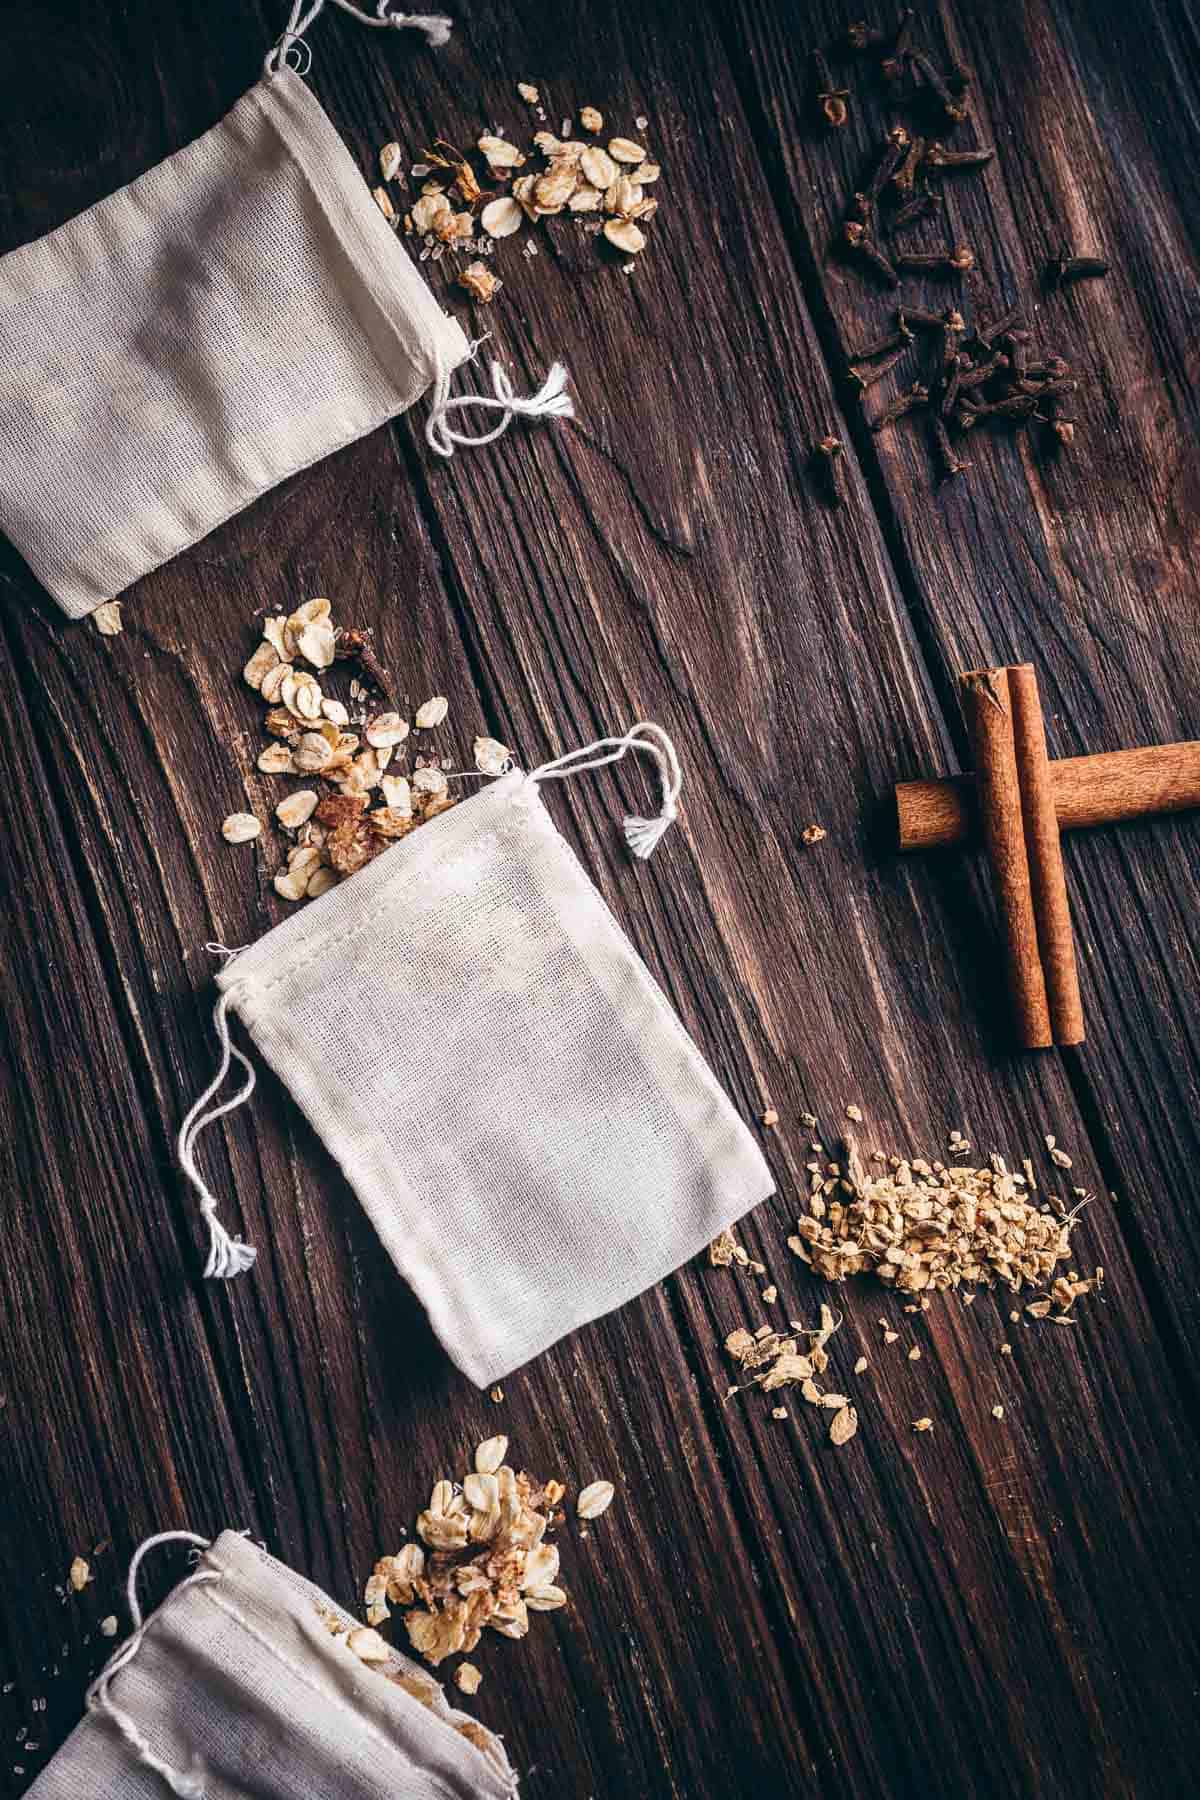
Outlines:
<svg viewBox="0 0 1200 1800"><path fill-rule="evenodd" d="M954 1132L950 1148L961 1154L970 1143ZM1070 1210L1038 1201L1029 1159L1022 1174L997 1154L986 1168L883 1157L882 1150L873 1161L885 1166L869 1177L846 1138L838 1161L808 1163L808 1213L788 1249L828 1282L874 1274L903 1294L963 1283L1031 1287L1038 1294L1025 1312L1056 1325L1070 1325L1074 1301L1103 1282L1101 1269L1090 1278L1056 1273L1070 1258L1070 1229L1090 1195L1079 1193Z"/></svg>

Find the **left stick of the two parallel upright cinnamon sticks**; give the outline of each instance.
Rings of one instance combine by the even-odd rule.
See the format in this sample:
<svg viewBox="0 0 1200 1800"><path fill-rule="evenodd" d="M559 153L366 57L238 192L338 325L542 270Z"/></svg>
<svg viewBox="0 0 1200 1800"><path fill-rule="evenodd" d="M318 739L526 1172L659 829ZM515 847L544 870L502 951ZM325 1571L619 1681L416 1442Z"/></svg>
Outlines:
<svg viewBox="0 0 1200 1800"><path fill-rule="evenodd" d="M963 698L975 752L979 817L1000 905L1016 1037L1025 1049L1047 1049L1054 1037L1029 880L1007 670L970 670L963 675Z"/></svg>

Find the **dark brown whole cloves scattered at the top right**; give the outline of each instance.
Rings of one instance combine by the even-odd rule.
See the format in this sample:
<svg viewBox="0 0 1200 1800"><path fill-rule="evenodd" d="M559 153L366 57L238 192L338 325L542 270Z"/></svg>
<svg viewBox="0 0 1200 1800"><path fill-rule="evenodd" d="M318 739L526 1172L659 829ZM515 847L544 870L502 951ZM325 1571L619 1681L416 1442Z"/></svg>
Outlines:
<svg viewBox="0 0 1200 1800"><path fill-rule="evenodd" d="M928 56L910 47L912 9L905 9L896 29L878 31L856 23L840 41L838 54L871 59L887 90L889 103L903 106L914 121L894 124L880 148L869 180L858 189L838 234L842 254L864 274L889 288L900 288L905 275L955 281L975 268L975 256L964 243L934 252L903 248L903 234L936 214L941 205L939 184L946 175L977 173L995 151L988 148L952 149L945 142L968 117L972 76L954 65L939 70ZM813 52L813 106L824 128L840 128L849 117L851 92L837 86L826 56ZM1106 274L1097 257L1078 257L1063 248L1045 274L1047 288ZM849 358L849 382L862 394L894 369L918 342L930 344L930 356L919 380L912 382L871 421L883 430L898 419L921 414L928 419L932 445L943 477L959 475L970 464L959 455L966 432L988 421L1016 427L1042 423L1051 448L1074 437L1070 396L1076 380L1061 356L1040 355L1033 333L1024 328L1020 308L1013 308L990 326L968 328L963 311L925 311L901 306L894 329ZM826 434L813 446L829 499L840 504L846 493L842 443Z"/></svg>

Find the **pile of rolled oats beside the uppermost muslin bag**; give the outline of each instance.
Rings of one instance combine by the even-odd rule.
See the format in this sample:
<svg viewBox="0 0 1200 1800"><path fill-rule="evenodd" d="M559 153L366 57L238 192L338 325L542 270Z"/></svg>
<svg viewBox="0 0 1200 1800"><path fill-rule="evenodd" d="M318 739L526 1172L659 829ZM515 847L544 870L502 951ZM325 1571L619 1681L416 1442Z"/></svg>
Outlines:
<svg viewBox="0 0 1200 1800"><path fill-rule="evenodd" d="M545 119L538 88L527 81L516 86L520 97ZM639 119L635 128L642 131L644 126L646 119ZM448 250L473 257L464 268L455 266L455 281L475 301L491 301L504 284L488 266L497 239L560 212L574 214L581 230L603 234L619 256L635 257L646 248L642 227L658 211L657 198L646 189L662 169L635 139L599 142L604 119L596 106L579 108L578 128L583 137L572 135L576 121L567 117L560 135L534 131L527 149L500 130L484 131L475 146L475 164L439 139L412 164L410 176L421 191L405 211L398 211L390 194L390 184L407 187L403 153L399 144L385 144L380 151L385 185L374 189L376 205L392 229L403 227L421 239L423 263L439 263ZM524 248L527 257L538 254L533 238ZM633 263L624 268L628 274Z"/></svg>

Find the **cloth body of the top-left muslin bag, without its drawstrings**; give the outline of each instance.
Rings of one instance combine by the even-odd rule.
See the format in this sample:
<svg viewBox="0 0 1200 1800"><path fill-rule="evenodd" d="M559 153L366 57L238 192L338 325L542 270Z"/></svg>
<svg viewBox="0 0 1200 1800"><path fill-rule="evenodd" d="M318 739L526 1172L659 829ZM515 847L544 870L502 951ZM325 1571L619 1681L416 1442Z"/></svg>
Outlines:
<svg viewBox="0 0 1200 1800"><path fill-rule="evenodd" d="M0 529L81 617L466 355L281 68L0 257Z"/></svg>

